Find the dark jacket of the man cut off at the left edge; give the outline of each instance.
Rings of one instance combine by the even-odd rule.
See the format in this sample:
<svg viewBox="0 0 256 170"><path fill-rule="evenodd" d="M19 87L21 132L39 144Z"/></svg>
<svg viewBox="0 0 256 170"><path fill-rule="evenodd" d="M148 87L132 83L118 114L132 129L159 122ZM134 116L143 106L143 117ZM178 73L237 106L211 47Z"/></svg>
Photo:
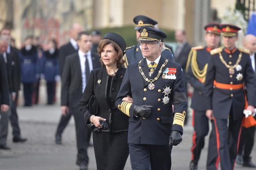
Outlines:
<svg viewBox="0 0 256 170"><path fill-rule="evenodd" d="M6 63L3 59L3 55L0 54L0 105L9 105L9 92L6 89L9 89Z"/></svg>

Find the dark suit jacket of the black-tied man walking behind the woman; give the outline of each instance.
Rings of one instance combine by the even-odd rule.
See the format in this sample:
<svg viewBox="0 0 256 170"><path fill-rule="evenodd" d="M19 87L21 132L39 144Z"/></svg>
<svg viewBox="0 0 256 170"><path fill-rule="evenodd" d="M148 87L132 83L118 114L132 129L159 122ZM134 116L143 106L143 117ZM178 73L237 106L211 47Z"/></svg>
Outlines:
<svg viewBox="0 0 256 170"><path fill-rule="evenodd" d="M99 56L92 53L93 69L100 67ZM82 73L78 52L67 56L61 84L61 106L78 107L82 98ZM88 82L89 83L89 82Z"/></svg>

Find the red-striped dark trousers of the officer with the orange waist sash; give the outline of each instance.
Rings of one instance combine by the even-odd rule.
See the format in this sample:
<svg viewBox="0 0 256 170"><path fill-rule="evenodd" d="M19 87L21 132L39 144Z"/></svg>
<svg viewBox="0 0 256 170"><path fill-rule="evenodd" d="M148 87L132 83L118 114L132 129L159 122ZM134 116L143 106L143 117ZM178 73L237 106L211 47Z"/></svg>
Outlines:
<svg viewBox="0 0 256 170"><path fill-rule="evenodd" d="M229 119L215 118L214 121L217 127L216 136L220 167L222 170L234 170L242 119L234 120L233 111L231 110Z"/></svg>

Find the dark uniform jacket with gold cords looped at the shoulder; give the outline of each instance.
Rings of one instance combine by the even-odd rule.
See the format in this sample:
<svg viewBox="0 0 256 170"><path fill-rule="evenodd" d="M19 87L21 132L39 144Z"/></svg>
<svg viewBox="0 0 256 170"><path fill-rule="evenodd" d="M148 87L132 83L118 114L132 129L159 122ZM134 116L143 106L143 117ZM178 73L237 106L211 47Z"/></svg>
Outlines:
<svg viewBox="0 0 256 170"><path fill-rule="evenodd" d="M194 93L191 100L191 108L198 111L205 111L205 95L203 93L204 82L208 61L211 56L209 47L192 47L189 54L188 63L186 66L187 81L194 88ZM197 70L205 71L205 73L197 74Z"/></svg>

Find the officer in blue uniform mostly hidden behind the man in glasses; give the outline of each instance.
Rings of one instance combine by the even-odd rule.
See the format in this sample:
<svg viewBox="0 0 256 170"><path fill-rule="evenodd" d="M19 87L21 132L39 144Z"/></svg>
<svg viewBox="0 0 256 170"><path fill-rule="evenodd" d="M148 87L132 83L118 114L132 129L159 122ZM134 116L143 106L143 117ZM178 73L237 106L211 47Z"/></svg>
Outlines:
<svg viewBox="0 0 256 170"><path fill-rule="evenodd" d="M151 19L150 17L147 17L145 15L137 15L134 17L134 23L135 25L135 30L136 30L136 38L138 39L140 36L139 33L139 28L140 27L154 27L154 25L158 24L157 21ZM164 58L169 59L170 61L174 62L174 58L173 58L173 53L171 52L171 50L167 47L164 47L164 50L161 52L161 55ZM139 62L139 60L143 59L143 55L141 52L141 47L139 44L136 44L134 46L131 47L127 47L126 48L126 52L124 55L124 59L125 59L125 64L124 66L127 67L128 64L131 63L137 63Z"/></svg>

